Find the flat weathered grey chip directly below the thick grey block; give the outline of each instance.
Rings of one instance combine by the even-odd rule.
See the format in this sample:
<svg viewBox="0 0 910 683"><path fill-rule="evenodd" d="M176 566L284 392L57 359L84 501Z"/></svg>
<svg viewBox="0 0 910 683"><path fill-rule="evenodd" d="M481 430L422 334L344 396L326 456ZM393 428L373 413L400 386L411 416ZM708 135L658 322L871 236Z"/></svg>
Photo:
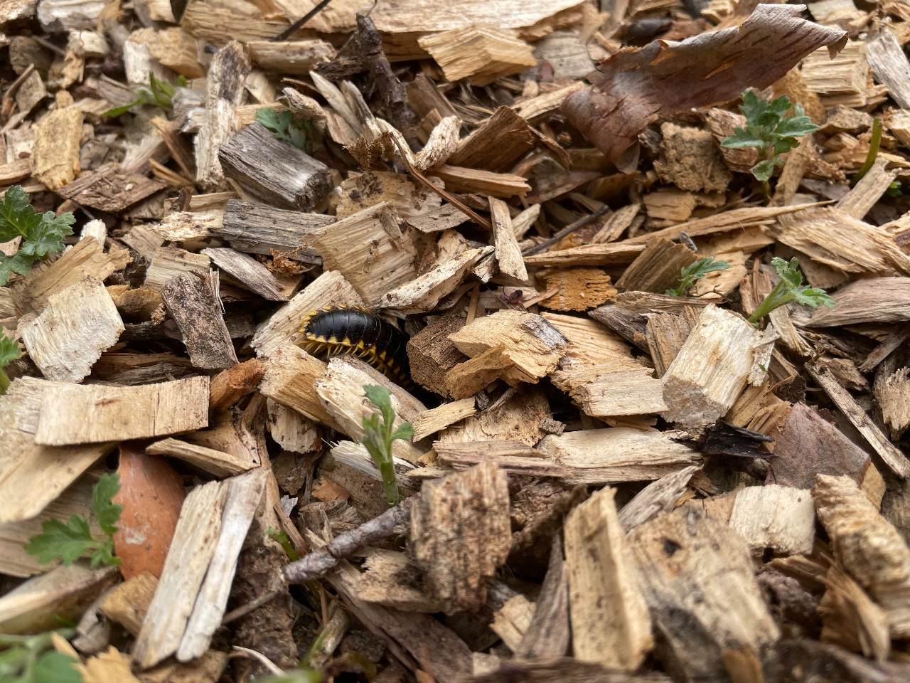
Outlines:
<svg viewBox="0 0 910 683"><path fill-rule="evenodd" d="M467 217L465 218L467 219ZM251 204L230 199L218 233L230 245L248 254L271 255L283 251L288 259L321 263L319 254L308 244L314 231L335 222L334 216L276 209L266 204Z"/></svg>

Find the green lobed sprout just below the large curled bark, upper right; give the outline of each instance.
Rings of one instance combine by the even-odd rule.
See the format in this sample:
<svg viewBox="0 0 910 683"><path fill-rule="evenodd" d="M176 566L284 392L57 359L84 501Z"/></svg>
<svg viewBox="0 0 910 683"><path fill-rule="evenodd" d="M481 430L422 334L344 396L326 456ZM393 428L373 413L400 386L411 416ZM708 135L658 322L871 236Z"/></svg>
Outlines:
<svg viewBox="0 0 910 683"><path fill-rule="evenodd" d="M787 116L791 106L794 114ZM774 168L784 165L780 155L799 145L796 138L814 133L818 127L805 116L802 105L792 104L785 95L774 100L759 99L753 90L746 90L740 112L745 117L745 127L733 128L733 135L723 138L721 145L731 149L756 148L758 163L750 170L767 189Z"/></svg>

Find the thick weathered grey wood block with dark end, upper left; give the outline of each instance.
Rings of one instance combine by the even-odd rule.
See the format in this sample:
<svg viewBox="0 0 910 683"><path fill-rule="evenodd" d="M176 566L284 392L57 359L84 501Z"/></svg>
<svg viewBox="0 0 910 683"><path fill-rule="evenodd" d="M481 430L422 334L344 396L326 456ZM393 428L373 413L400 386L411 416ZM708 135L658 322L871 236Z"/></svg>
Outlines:
<svg viewBox="0 0 910 683"><path fill-rule="evenodd" d="M329 167L253 123L218 150L227 178L279 209L312 209L332 189Z"/></svg>

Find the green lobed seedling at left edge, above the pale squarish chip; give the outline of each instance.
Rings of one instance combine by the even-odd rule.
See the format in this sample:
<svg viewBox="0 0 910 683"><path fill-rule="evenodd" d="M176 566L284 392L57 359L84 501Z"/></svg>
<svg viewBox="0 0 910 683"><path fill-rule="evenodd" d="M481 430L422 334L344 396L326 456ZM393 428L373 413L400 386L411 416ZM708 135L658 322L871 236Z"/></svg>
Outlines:
<svg viewBox="0 0 910 683"><path fill-rule="evenodd" d="M76 217L69 211L60 216L55 216L54 211L35 211L20 185L7 189L0 201L0 242L17 237L22 242L13 256L0 252L0 286L13 273L25 275L36 260L45 260L50 254L62 251L63 239L73 234L70 226L75 222Z"/></svg>

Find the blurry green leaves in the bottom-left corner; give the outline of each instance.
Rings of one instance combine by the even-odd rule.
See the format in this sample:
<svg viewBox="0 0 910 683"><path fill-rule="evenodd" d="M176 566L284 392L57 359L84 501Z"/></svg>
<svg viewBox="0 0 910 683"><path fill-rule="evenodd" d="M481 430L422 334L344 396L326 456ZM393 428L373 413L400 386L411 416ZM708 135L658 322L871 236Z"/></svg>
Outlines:
<svg viewBox="0 0 910 683"><path fill-rule="evenodd" d="M57 631L62 637L73 637L76 629ZM82 683L82 674L74 668L75 658L56 652L54 631L35 636L0 634L0 682L2 683Z"/></svg>

